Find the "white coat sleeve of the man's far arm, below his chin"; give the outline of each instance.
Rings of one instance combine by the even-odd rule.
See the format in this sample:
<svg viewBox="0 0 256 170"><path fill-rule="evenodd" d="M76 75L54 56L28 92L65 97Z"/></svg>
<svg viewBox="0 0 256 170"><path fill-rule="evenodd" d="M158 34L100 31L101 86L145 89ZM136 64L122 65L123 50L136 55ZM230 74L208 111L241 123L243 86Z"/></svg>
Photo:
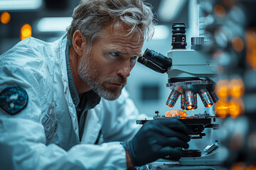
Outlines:
<svg viewBox="0 0 256 170"><path fill-rule="evenodd" d="M139 113L126 89L122 90L122 95L116 101L102 99L102 105L107 115L102 125L104 142L131 140L142 127L137 125L136 120L148 118Z"/></svg>

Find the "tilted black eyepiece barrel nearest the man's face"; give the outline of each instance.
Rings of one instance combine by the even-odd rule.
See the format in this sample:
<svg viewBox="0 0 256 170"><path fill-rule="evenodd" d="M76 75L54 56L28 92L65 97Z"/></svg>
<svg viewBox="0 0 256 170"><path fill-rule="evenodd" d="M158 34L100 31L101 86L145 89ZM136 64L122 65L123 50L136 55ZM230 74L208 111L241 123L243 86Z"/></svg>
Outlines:
<svg viewBox="0 0 256 170"><path fill-rule="evenodd" d="M155 52L154 50L150 50L148 48L145 50L143 57L150 60L151 62L154 62L162 69L168 69L172 65L171 58L165 57L159 52Z"/></svg>

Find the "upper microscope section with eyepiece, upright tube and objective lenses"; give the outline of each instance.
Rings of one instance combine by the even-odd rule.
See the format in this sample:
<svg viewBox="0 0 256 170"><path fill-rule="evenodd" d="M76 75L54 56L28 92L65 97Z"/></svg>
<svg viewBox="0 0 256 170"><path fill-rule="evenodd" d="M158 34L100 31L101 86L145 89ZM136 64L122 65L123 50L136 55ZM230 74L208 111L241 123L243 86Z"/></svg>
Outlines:
<svg viewBox="0 0 256 170"><path fill-rule="evenodd" d="M168 57L154 50L146 49L138 62L156 72L167 73L166 87L171 94L166 105L173 108L181 96L181 109L196 110L197 94L201 97L205 107L213 106L218 101L215 93L215 77L217 62L214 62L206 52L204 38L191 38L191 50L186 50L186 24L174 23L172 43L173 49Z"/></svg>

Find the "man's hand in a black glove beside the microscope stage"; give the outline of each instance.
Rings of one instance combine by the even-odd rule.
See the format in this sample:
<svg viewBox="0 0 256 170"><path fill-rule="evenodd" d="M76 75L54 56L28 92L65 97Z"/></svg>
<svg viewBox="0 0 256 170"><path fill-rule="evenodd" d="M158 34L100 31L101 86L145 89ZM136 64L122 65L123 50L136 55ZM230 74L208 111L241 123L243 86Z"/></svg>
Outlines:
<svg viewBox="0 0 256 170"><path fill-rule="evenodd" d="M122 145L130 154L134 166L142 166L156 159L181 157L181 150L188 149L189 129L176 119L151 120L142 126L132 140Z"/></svg>

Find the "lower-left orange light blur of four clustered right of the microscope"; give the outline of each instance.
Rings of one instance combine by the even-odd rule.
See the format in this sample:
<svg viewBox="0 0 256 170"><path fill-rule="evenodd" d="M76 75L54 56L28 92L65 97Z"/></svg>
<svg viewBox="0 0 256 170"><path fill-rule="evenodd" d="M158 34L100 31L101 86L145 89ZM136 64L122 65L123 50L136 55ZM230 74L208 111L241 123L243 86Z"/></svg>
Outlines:
<svg viewBox="0 0 256 170"><path fill-rule="evenodd" d="M215 114L218 118L225 118L228 116L228 99L220 98L220 101L215 103Z"/></svg>

